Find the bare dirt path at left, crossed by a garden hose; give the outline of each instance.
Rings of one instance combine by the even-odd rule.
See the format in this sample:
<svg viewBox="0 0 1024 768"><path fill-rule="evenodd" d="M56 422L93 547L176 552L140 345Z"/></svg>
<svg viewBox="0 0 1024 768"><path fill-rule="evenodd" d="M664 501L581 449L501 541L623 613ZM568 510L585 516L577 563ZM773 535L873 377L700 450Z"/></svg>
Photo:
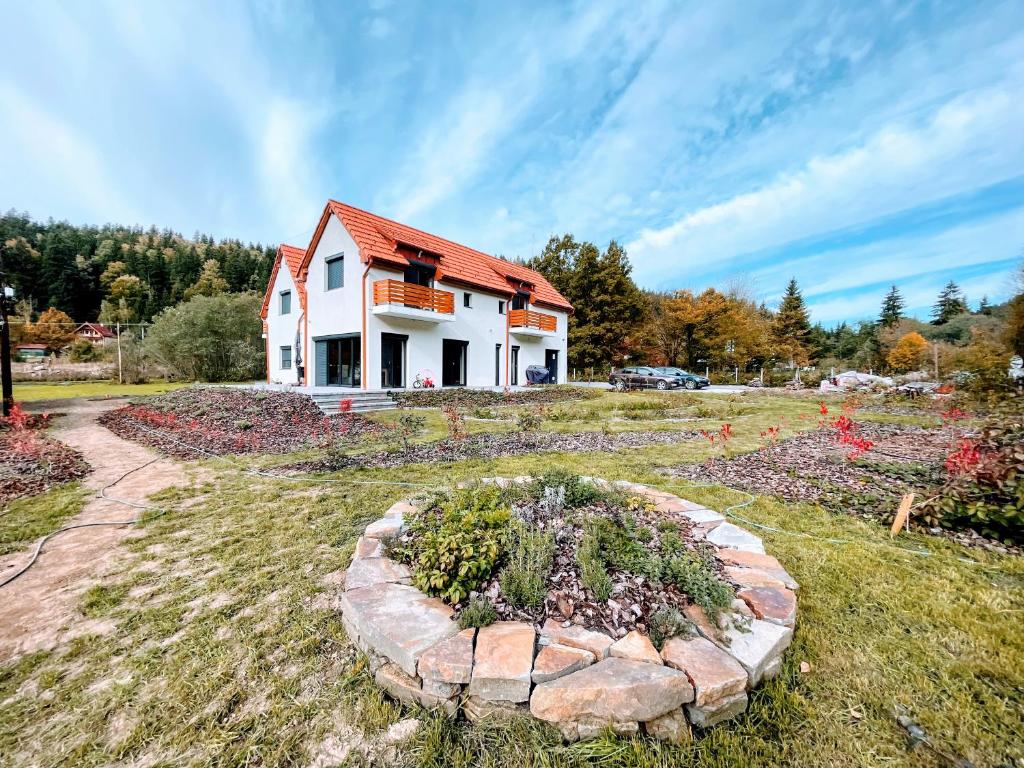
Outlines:
<svg viewBox="0 0 1024 768"><path fill-rule="evenodd" d="M96 423L96 417L124 400L60 400L49 403L65 414L56 421L53 436L81 451L92 467L83 481L97 497L67 524L130 520L139 510L98 497L100 488L125 472L158 458L158 454L117 437ZM34 411L42 408L33 403ZM187 481L184 467L160 459L108 489L108 496L144 501L147 496ZM137 530L137 529L136 529ZM81 528L47 543L36 564L19 579L0 588L0 664L25 653L53 648L80 634L102 631L77 609L81 593L123 554L119 543L132 536L131 526ZM0 559L0 577L24 565L35 544L25 552Z"/></svg>

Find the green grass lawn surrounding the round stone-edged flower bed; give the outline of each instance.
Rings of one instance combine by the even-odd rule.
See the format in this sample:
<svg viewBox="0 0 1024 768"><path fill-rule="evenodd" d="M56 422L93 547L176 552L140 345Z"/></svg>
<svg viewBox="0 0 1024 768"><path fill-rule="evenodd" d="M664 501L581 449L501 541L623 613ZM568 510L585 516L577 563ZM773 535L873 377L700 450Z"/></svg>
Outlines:
<svg viewBox="0 0 1024 768"><path fill-rule="evenodd" d="M579 423L610 417L632 396L601 398ZM817 414L812 400L769 395L703 394L692 408L700 403L712 411L693 413L698 425L728 414L731 451L757 447L760 431L783 420L791 433L812 427ZM430 418L434 433L438 419ZM494 426L473 428L480 424ZM341 627L332 574L394 500L554 467L648 482L718 509L744 500L657 472L710 453L702 440L681 440L347 471L329 475L333 483L256 478L205 462L209 481L162 494L175 511L128 540L119 569L84 596L83 614L109 631L0 670L0 762L291 766L330 753L333 762L321 765L944 765L908 750L897 713L976 766L1024 760L1024 561L919 535L891 541L861 519L768 498L737 511L751 521L738 522L762 535L801 583L796 638L782 674L755 692L748 713L687 746L610 736L562 744L529 719L471 726L403 710L373 685ZM358 484L371 481L411 485ZM383 732L410 716L421 719L419 731L386 752Z"/></svg>

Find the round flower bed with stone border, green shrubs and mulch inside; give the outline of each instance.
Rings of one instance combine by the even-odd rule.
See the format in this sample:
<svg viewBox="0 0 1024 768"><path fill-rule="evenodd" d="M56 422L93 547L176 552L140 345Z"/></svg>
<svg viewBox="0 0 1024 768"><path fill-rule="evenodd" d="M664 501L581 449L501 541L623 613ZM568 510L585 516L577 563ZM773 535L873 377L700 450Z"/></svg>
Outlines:
<svg viewBox="0 0 1024 768"><path fill-rule="evenodd" d="M551 473L397 502L358 540L341 609L401 701L682 742L778 673L797 588L714 510Z"/></svg>

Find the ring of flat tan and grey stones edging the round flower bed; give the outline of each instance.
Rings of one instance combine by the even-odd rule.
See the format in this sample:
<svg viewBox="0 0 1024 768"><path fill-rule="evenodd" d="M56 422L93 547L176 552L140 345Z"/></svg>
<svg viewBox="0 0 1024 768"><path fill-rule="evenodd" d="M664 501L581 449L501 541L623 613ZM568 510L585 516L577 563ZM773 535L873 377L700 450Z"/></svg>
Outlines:
<svg viewBox="0 0 1024 768"><path fill-rule="evenodd" d="M715 547L737 588L717 631L690 606L684 612L698 636L673 638L660 653L639 632L616 639L550 618L539 632L521 622L460 632L452 608L411 587L409 568L384 556L381 540L400 534L404 515L418 509L406 500L367 526L341 598L345 630L369 655L377 684L407 703L451 715L461 708L472 721L528 712L569 740L611 727L682 742L690 724L708 728L742 713L748 691L781 668L797 618L797 583L765 554L761 539L714 510L646 485L585 479L647 497L657 510L688 518L694 536Z"/></svg>

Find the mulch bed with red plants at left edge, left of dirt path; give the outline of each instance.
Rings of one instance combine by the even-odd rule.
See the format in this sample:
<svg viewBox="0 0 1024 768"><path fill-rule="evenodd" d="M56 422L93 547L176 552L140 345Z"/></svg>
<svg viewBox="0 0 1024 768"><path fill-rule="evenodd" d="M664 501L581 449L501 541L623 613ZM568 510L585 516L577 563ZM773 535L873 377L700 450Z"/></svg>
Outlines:
<svg viewBox="0 0 1024 768"><path fill-rule="evenodd" d="M33 415L0 426L0 507L89 473L80 453L42 434L49 421Z"/></svg>

